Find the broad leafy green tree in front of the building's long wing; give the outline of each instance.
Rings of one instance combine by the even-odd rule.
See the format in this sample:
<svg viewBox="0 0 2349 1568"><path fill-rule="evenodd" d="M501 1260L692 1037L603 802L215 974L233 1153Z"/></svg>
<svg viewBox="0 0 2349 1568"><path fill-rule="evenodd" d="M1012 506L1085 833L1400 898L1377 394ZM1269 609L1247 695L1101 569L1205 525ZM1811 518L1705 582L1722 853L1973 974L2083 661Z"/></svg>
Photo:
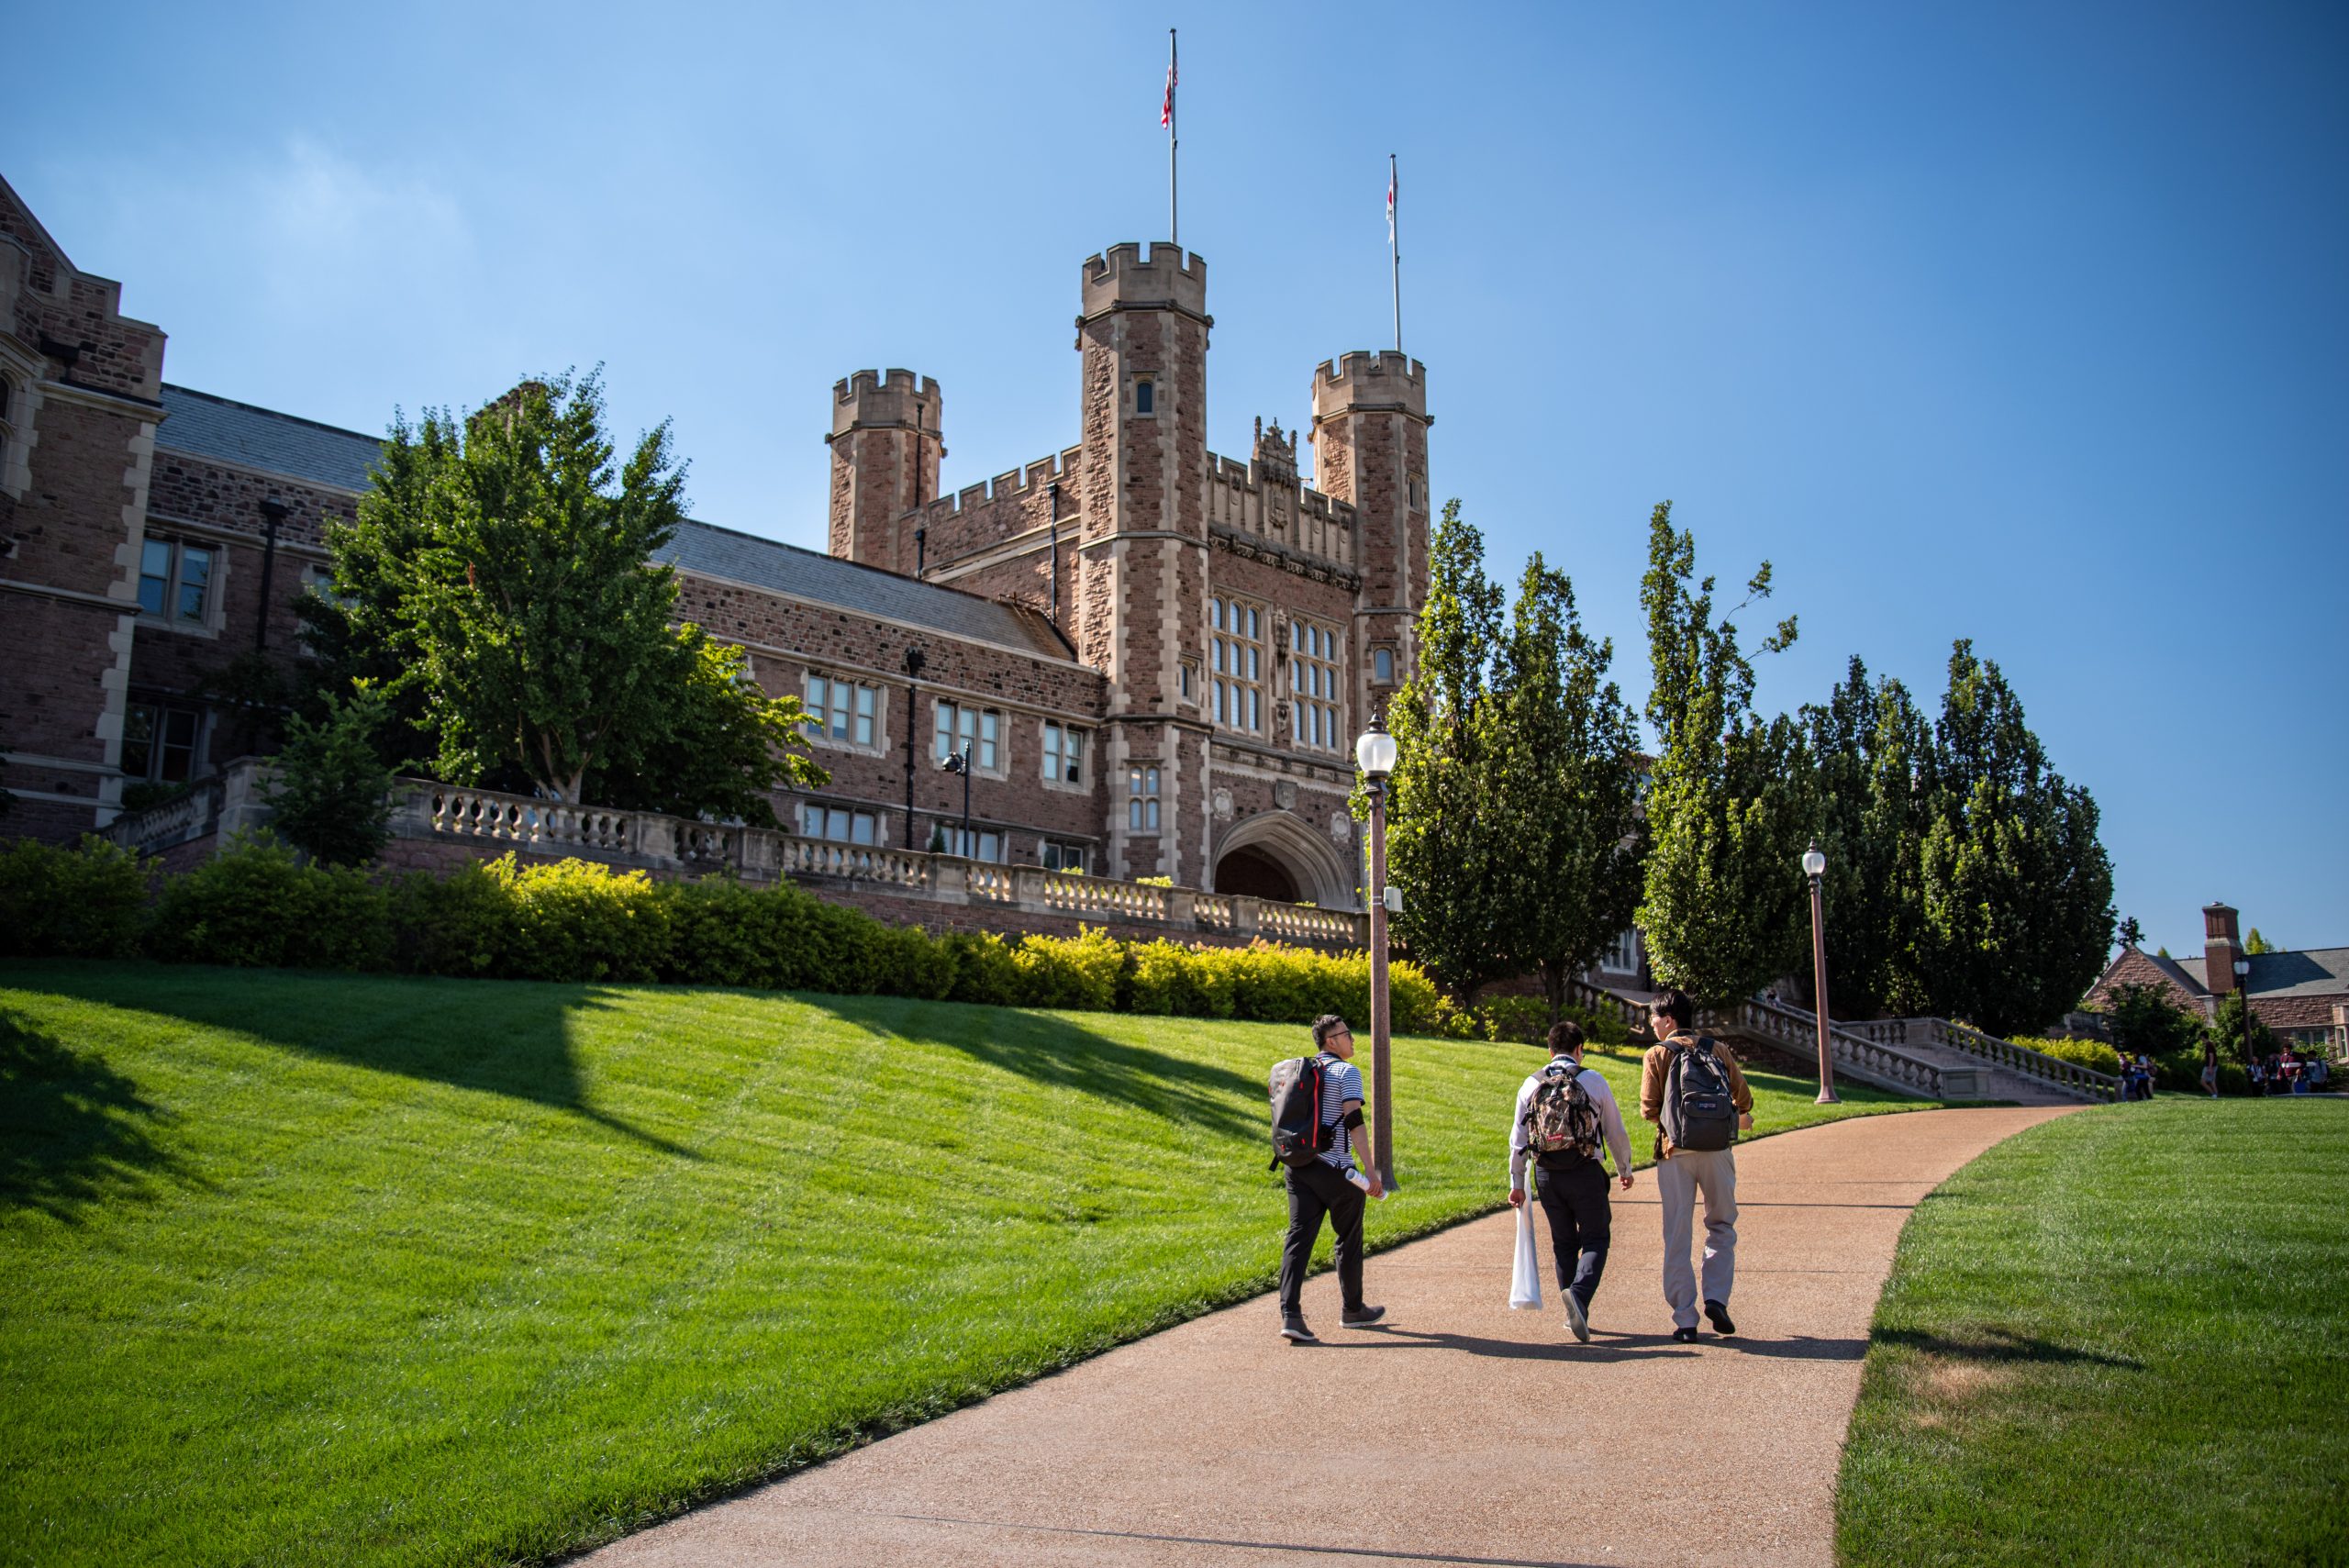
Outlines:
<svg viewBox="0 0 2349 1568"><path fill-rule="evenodd" d="M446 779L773 824L770 789L824 777L799 702L672 624L667 425L615 458L594 376L397 423L357 519L329 528L312 643L336 681L378 681Z"/></svg>

